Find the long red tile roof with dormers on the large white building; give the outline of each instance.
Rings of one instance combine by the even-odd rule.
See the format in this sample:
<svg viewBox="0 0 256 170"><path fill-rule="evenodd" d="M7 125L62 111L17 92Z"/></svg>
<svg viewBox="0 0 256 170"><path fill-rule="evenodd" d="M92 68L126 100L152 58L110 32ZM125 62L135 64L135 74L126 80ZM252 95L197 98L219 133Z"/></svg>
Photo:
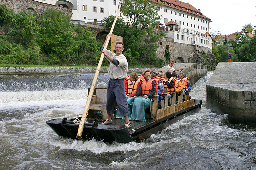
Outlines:
<svg viewBox="0 0 256 170"><path fill-rule="evenodd" d="M181 10L190 14L194 14L206 19L211 20L210 18L204 16L199 10L197 10L194 6L192 6L189 3L185 3L179 0L152 0L153 2L158 2L158 3L162 3L164 2L163 5L171 7L171 8L175 8L177 10Z"/></svg>

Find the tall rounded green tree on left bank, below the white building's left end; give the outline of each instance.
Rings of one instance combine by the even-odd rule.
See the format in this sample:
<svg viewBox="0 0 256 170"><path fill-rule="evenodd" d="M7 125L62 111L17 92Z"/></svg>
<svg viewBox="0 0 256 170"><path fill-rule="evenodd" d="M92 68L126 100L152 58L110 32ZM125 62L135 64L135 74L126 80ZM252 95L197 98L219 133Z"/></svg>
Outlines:
<svg viewBox="0 0 256 170"><path fill-rule="evenodd" d="M52 64L68 63L74 55L74 27L62 11L48 8L41 18L41 48Z"/></svg>

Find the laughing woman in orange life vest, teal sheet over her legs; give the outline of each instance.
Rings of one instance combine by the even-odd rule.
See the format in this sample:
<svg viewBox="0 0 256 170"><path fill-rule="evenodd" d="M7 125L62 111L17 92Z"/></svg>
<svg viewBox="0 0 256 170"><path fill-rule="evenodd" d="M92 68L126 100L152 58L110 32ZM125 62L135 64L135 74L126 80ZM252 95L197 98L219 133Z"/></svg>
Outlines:
<svg viewBox="0 0 256 170"><path fill-rule="evenodd" d="M130 120L146 121L145 110L153 102L156 94L156 79L152 79L150 70L145 70L144 80L133 97L132 113ZM137 97L138 96L138 97Z"/></svg>

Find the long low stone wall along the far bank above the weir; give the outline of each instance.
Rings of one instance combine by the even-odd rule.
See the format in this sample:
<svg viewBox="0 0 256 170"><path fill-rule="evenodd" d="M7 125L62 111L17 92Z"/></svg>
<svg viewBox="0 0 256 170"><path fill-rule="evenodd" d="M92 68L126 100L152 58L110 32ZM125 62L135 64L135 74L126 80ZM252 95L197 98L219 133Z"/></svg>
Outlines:
<svg viewBox="0 0 256 170"><path fill-rule="evenodd" d="M141 72L144 68L128 68L129 72ZM156 70L157 68L146 68ZM108 67L101 67L100 72L108 72ZM0 67L0 74L15 73L95 73L96 67Z"/></svg>

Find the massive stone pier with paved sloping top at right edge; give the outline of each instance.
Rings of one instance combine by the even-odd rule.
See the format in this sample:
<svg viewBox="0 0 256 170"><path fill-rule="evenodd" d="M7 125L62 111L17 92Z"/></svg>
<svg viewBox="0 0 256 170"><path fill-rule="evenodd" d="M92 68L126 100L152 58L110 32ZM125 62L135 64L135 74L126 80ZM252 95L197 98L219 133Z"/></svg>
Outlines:
<svg viewBox="0 0 256 170"><path fill-rule="evenodd" d="M218 63L207 84L207 107L230 123L256 123L256 63Z"/></svg>

